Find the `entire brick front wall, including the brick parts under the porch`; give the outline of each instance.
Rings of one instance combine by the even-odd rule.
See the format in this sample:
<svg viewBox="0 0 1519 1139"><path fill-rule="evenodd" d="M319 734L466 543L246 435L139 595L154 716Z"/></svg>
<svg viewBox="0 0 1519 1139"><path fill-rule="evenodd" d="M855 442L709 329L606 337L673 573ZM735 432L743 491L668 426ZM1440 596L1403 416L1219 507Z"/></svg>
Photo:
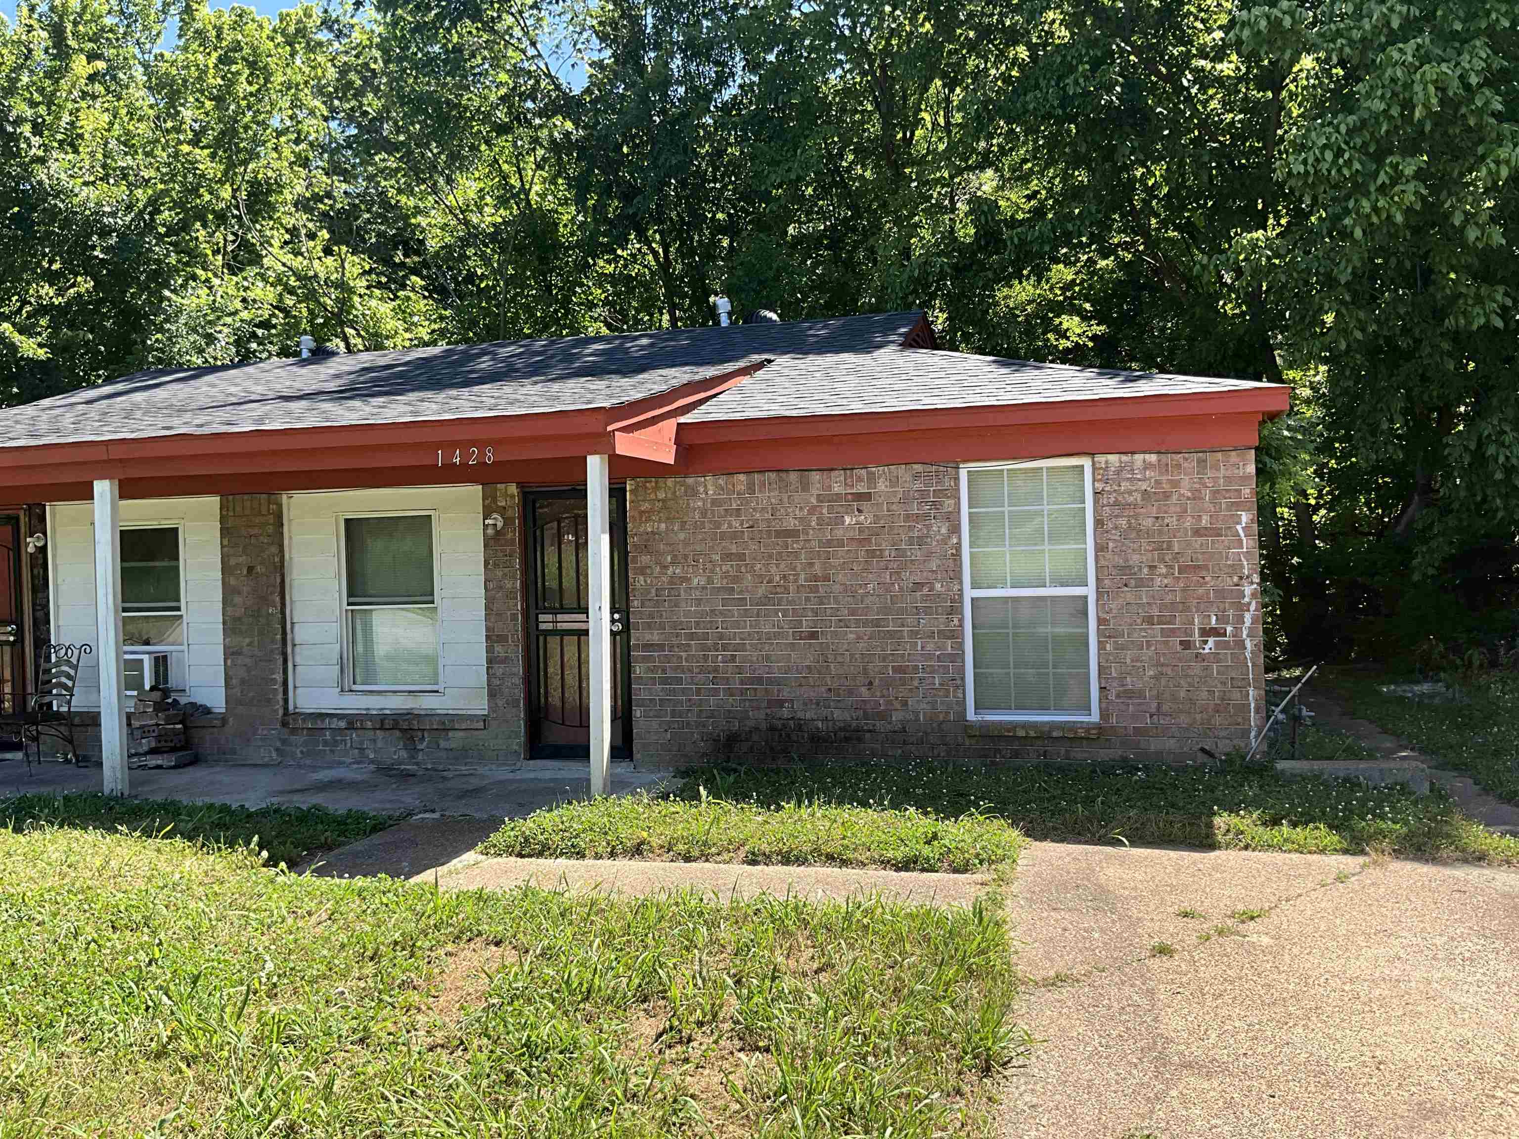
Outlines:
<svg viewBox="0 0 1519 1139"><path fill-rule="evenodd" d="M1100 724L968 723L954 466L629 484L641 765L816 756L1195 759L1264 723L1252 451L1098 456ZM222 501L228 712L207 759L513 764L519 495L485 487L489 717L286 709L279 498ZM1247 652L1249 645L1249 652ZM88 747L99 755L90 734Z"/></svg>

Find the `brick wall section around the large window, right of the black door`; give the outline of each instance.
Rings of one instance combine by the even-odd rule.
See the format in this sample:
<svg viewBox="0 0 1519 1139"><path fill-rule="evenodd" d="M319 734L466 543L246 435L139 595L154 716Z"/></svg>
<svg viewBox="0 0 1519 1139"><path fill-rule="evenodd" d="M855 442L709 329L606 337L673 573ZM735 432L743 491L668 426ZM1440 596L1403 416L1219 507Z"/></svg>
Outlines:
<svg viewBox="0 0 1519 1139"><path fill-rule="evenodd" d="M635 755L1188 759L1249 743L1253 454L1098 456L1094 480L1100 724L966 723L955 468L633 481Z"/></svg>

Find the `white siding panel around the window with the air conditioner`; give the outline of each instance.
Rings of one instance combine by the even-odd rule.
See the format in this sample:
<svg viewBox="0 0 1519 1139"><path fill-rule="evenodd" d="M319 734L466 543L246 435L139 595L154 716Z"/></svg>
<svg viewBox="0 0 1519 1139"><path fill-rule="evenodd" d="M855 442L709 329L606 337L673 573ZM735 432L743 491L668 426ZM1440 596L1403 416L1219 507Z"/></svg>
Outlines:
<svg viewBox="0 0 1519 1139"><path fill-rule="evenodd" d="M58 503L49 509L53 639L97 645L94 509ZM122 525L184 528L185 671L188 699L226 711L222 656L222 500L143 498L122 503ZM85 658L74 691L77 708L100 706L100 674Z"/></svg>

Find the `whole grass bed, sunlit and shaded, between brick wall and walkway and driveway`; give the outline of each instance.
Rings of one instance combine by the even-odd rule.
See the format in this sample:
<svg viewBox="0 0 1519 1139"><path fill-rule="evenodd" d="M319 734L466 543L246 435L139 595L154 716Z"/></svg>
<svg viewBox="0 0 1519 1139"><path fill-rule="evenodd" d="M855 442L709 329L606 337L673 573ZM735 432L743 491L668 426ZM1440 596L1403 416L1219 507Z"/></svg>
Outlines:
<svg viewBox="0 0 1519 1139"><path fill-rule="evenodd" d="M1270 768L849 762L693 771L667 797L507 822L485 853L968 870L1027 838L1519 864L1435 793Z"/></svg>

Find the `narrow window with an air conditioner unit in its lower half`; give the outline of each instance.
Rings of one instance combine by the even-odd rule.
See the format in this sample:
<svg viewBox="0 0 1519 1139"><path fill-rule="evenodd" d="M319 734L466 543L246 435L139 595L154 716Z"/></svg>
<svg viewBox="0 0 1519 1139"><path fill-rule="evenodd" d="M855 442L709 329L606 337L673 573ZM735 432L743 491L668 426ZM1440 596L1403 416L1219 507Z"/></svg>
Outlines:
<svg viewBox="0 0 1519 1139"><path fill-rule="evenodd" d="M185 691L184 527L122 527L122 642L126 689Z"/></svg>

